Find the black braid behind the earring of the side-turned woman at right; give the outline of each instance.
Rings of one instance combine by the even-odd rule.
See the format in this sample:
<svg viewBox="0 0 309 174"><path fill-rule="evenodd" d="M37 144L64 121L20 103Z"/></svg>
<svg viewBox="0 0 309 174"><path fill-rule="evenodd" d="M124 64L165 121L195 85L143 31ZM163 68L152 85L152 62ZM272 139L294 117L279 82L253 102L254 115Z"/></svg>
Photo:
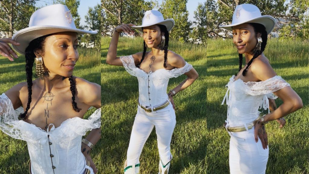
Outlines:
<svg viewBox="0 0 309 174"><path fill-rule="evenodd" d="M261 43L261 50L260 51L256 51L255 54L253 55L252 59L248 62L247 67L243 70L243 76L246 76L246 72L247 69L249 68L249 66L251 65L252 61L257 58L260 54L263 53L263 51L265 50L266 44L267 44L267 32L265 30L265 26L262 24L257 24L257 23L249 23L253 28L254 28L254 32L257 33L261 33L261 37L262 37L262 43Z"/></svg>

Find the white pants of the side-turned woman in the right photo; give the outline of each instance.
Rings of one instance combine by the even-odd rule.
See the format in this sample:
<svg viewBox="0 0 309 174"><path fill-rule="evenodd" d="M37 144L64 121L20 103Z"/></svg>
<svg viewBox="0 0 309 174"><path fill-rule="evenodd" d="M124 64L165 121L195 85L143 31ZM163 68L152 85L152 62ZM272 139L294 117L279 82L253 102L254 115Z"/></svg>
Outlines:
<svg viewBox="0 0 309 174"><path fill-rule="evenodd" d="M269 149L254 139L254 126L249 131L228 132L230 139L231 174L265 174Z"/></svg>

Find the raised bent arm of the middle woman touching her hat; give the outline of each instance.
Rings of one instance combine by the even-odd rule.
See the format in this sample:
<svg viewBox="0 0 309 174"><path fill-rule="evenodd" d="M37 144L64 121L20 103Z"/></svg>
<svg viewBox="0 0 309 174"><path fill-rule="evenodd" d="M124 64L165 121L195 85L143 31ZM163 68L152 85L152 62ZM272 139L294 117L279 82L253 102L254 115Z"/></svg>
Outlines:
<svg viewBox="0 0 309 174"><path fill-rule="evenodd" d="M109 44L107 56L106 56L106 63L110 65L116 65L116 66L123 66L121 60L119 57L117 57L117 45L119 40L119 35L121 32L125 33L131 33L134 32L131 29L131 26L134 26L133 24L122 24L115 28L114 33L112 35L111 43Z"/></svg>

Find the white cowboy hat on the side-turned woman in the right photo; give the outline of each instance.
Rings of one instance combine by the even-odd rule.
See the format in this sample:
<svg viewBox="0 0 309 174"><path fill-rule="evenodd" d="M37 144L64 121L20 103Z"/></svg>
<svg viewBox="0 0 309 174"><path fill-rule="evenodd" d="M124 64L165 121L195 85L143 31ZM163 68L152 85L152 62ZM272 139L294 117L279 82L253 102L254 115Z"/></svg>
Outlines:
<svg viewBox="0 0 309 174"><path fill-rule="evenodd" d="M243 23L258 23L262 24L266 28L267 34L273 31L275 28L276 20L273 16L261 15L261 11L258 7L252 4L241 4L236 6L232 24L219 25L219 27L232 31L232 27Z"/></svg>

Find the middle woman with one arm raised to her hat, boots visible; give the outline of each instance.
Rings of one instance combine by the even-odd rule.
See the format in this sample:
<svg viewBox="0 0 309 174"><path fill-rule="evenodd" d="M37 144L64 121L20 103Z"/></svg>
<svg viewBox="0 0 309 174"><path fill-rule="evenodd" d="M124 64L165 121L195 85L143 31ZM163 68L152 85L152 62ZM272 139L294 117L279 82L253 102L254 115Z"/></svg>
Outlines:
<svg viewBox="0 0 309 174"><path fill-rule="evenodd" d="M159 11L146 11L141 26L123 24L115 28L108 49L106 63L124 66L129 74L138 78L138 111L132 128L125 174L139 172L142 148L155 126L160 155L159 173L168 173L172 155L171 136L176 124L173 96L187 88L198 74L184 59L168 48L169 34L174 20L164 20ZM121 32L133 33L131 27L143 32L144 50L130 56L117 57L117 43ZM151 51L146 52L146 48ZM185 74L180 85L166 94L169 78Z"/></svg>

